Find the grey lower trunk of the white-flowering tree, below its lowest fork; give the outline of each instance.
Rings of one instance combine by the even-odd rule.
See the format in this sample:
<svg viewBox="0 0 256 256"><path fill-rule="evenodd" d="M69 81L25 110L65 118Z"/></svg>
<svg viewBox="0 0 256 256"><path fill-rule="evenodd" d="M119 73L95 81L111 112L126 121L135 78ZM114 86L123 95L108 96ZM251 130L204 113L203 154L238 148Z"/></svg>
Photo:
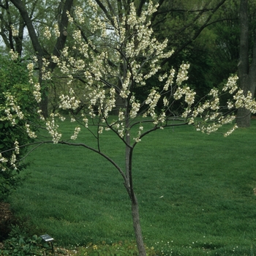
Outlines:
<svg viewBox="0 0 256 256"><path fill-rule="evenodd" d="M133 222L133 228L135 231L135 238L136 238L139 255L146 256L146 249L143 243L143 236L142 236L141 227L140 227L138 200L135 195L134 195L134 200L132 200L132 222Z"/></svg>

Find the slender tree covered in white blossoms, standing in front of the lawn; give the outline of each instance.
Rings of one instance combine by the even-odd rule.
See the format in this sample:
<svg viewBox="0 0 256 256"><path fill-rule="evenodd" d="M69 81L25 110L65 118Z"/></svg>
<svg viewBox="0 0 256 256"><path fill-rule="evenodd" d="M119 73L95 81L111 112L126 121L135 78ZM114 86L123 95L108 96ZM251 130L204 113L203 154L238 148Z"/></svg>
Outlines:
<svg viewBox="0 0 256 256"><path fill-rule="evenodd" d="M95 1L89 1L89 7L94 15L91 16L89 31L93 39L84 37L81 28L85 24L85 17L80 8L74 15L68 13L69 22L77 27L72 33L75 40L72 48L64 48L58 56L51 56L50 60L43 59L42 79L45 83L55 79L63 79L69 89L59 97L59 111L50 114L45 119L38 109L38 115L45 124L51 140L39 140L42 143L61 143L69 146L83 146L107 159L118 170L124 180L132 205L132 219L139 255L146 255L143 245L143 236L140 229L138 200L132 179L132 158L135 146L148 133L165 127L191 124L197 130L205 133L216 132L219 127L235 121L235 108L248 108L256 112L256 102L252 95L244 96L238 89L236 75L231 76L222 91L211 89L208 95L199 102L195 102L195 91L184 83L187 80L189 64L181 64L176 72L159 72L160 63L169 58L173 51L165 51L167 40L157 41L151 29L150 17L156 12L157 5L151 1L146 8L136 15L133 3L129 5L127 15L112 17L98 12ZM45 31L45 37L50 38L50 31ZM51 71L50 63L58 69ZM41 88L34 80L34 67L37 66L37 57L28 64L29 83L34 91L34 98L41 101ZM135 94L136 89L143 90L147 80L158 78L145 99L139 101ZM221 94L229 94L225 108L220 106ZM15 97L15 95L13 96ZM179 106L176 110L176 106ZM22 116L18 115L12 105L7 105L10 111L6 118L13 120L14 126L23 126L31 138L36 138L32 124L23 124ZM115 118L111 118L113 110L117 111ZM61 113L67 111L69 116ZM68 140L62 139L60 132L64 119L76 122L77 126ZM148 125L151 124L150 128ZM96 127L94 129L93 127ZM236 124L227 132L230 135L236 129ZM86 143L75 142L80 132L89 132L97 141L95 148ZM124 144L125 169L122 169L108 153L102 151L102 133L113 132ZM15 154L19 147L17 142L11 148ZM6 152L5 152L6 153ZM16 152L17 154L17 152ZM11 161L11 162L10 162ZM1 168L7 162L15 167L16 162L7 159L4 152L0 155Z"/></svg>

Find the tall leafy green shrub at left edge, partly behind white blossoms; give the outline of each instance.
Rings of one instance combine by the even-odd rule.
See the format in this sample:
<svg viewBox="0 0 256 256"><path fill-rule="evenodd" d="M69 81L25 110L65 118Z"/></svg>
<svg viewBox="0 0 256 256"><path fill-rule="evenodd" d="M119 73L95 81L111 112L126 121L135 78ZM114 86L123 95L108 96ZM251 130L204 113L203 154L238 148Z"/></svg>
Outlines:
<svg viewBox="0 0 256 256"><path fill-rule="evenodd" d="M1 55L0 63L0 151L4 152L0 155L0 200L4 200L12 189L16 189L23 181L18 174L26 165L20 164L19 161L23 159L27 149L20 148L19 154L16 154L16 166L10 162L3 162L2 157L12 157L13 150L10 148L14 148L15 141L19 146L33 141L26 130L14 124L38 123L38 120L35 115L37 105L34 103L34 95L29 85L26 61L12 61L8 56ZM22 120L17 118L20 110L24 113Z"/></svg>

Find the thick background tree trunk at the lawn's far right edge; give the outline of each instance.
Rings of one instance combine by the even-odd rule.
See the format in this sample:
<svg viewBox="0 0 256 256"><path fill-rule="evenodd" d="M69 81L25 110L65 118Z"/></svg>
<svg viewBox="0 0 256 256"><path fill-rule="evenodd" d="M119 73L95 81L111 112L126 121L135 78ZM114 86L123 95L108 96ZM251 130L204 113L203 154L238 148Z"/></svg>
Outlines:
<svg viewBox="0 0 256 256"><path fill-rule="evenodd" d="M247 96L248 91L255 95L256 86L256 43L252 50L252 56L249 56L249 21L248 21L248 0L240 1L240 60L238 64L238 77L240 88L244 90L244 95ZM256 39L256 36L255 36ZM249 58L252 58L252 63L249 64ZM238 127L249 127L251 113L245 108L238 109L237 124Z"/></svg>

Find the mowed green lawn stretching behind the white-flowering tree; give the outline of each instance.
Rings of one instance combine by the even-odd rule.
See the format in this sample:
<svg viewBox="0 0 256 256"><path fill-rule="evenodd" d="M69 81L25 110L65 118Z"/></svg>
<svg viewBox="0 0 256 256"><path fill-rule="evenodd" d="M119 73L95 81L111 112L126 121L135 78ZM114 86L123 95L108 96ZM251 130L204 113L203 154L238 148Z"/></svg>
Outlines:
<svg viewBox="0 0 256 256"><path fill-rule="evenodd" d="M227 138L193 127L143 138L133 172L147 246L163 255L256 253L255 135L252 120ZM111 133L102 138L102 150L123 167L124 146ZM89 134L78 141L94 144ZM63 246L135 240L129 197L108 161L86 148L52 144L29 161L29 178L10 200L34 233Z"/></svg>

